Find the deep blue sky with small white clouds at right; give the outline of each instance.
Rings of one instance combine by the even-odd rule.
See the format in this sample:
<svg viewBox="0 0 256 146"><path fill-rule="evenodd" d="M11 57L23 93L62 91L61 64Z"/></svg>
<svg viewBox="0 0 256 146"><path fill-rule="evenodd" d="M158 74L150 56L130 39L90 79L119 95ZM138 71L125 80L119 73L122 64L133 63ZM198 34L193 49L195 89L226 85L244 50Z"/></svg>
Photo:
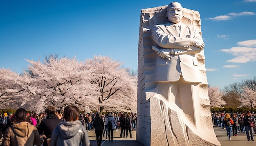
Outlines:
<svg viewBox="0 0 256 146"><path fill-rule="evenodd" d="M0 68L22 73L28 60L59 54L110 56L137 71L141 9L167 0L1 0ZM256 0L182 0L200 12L207 79L224 86L256 76Z"/></svg>

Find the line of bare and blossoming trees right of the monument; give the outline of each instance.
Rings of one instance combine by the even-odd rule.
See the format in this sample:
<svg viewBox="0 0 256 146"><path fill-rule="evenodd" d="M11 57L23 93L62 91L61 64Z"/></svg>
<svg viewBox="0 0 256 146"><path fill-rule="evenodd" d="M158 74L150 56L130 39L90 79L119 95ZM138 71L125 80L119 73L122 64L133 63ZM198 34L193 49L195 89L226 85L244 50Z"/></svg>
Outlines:
<svg viewBox="0 0 256 146"><path fill-rule="evenodd" d="M256 77L240 83L234 82L225 86L222 91L217 86L209 86L208 94L211 111L222 111L222 108L225 108L231 112L245 109L253 112L256 107Z"/></svg>

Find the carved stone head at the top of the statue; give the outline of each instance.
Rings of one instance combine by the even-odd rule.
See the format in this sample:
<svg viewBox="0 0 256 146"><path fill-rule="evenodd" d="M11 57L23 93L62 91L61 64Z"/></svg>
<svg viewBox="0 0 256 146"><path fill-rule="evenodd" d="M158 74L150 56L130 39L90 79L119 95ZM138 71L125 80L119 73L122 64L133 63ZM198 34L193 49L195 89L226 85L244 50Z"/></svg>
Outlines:
<svg viewBox="0 0 256 146"><path fill-rule="evenodd" d="M182 6L180 3L170 4L169 9L167 9L166 17L172 23L178 23L182 19Z"/></svg>

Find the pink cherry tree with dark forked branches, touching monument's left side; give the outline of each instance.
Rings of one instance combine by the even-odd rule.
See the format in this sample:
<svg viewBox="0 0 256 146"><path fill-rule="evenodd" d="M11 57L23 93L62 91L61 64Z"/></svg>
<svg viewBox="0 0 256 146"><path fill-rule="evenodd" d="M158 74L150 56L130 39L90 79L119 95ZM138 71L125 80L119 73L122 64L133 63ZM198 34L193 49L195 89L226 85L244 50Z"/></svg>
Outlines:
<svg viewBox="0 0 256 146"><path fill-rule="evenodd" d="M97 86L98 111L137 111L137 77L129 75L129 69L121 68L123 63L110 57L94 56L86 60L93 70L91 84Z"/></svg>

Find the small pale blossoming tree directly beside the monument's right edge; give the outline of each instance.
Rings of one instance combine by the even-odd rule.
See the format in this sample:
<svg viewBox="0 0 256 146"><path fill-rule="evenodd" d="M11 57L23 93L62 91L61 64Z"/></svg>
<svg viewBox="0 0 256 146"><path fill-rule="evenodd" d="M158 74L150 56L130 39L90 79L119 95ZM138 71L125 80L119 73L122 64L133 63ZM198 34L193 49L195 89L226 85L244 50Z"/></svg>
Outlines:
<svg viewBox="0 0 256 146"><path fill-rule="evenodd" d="M226 104L225 100L223 100L222 98L223 92L220 91L220 87L209 86L208 95L209 95L211 107L221 107L222 105Z"/></svg>

